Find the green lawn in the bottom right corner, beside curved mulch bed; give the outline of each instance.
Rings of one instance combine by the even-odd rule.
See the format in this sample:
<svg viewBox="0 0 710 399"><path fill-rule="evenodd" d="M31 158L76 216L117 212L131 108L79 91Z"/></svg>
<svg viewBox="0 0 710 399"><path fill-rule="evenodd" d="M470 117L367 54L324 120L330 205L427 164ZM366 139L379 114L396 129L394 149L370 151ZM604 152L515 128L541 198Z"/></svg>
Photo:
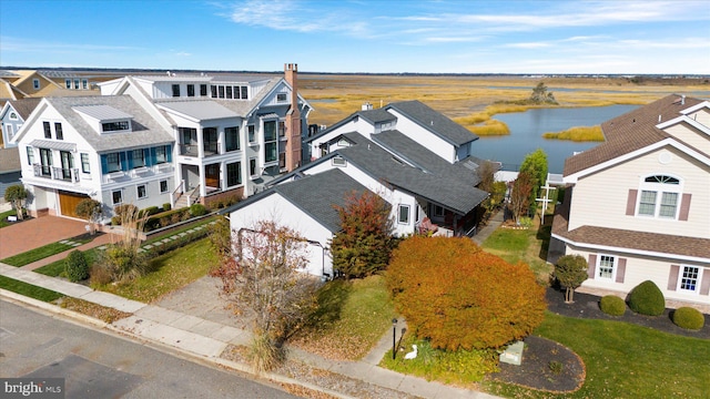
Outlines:
<svg viewBox="0 0 710 399"><path fill-rule="evenodd" d="M704 398L710 392L710 340L551 313L535 334L582 358L585 385L574 393L550 395L487 382L491 393L510 398Z"/></svg>

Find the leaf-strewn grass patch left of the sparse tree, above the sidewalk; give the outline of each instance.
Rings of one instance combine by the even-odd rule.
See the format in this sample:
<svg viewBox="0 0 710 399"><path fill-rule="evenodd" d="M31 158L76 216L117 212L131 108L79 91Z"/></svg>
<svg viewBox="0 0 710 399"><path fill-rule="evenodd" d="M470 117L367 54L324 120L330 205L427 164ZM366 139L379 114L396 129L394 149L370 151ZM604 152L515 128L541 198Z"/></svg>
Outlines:
<svg viewBox="0 0 710 399"><path fill-rule="evenodd" d="M101 290L152 303L207 274L217 257L210 239L204 238L150 260L150 273L132 282L104 285Z"/></svg>

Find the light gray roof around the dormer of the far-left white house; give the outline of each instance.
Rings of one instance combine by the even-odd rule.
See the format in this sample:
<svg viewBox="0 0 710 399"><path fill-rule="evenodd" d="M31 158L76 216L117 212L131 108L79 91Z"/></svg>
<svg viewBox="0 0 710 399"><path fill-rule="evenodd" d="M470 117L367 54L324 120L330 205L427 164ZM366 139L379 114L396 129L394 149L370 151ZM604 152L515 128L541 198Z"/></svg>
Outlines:
<svg viewBox="0 0 710 399"><path fill-rule="evenodd" d="M166 132L135 100L129 95L94 95L77 98L45 98L67 119L97 152L142 147L174 142L172 132ZM132 115L132 132L100 134L73 110L75 106L108 105Z"/></svg>

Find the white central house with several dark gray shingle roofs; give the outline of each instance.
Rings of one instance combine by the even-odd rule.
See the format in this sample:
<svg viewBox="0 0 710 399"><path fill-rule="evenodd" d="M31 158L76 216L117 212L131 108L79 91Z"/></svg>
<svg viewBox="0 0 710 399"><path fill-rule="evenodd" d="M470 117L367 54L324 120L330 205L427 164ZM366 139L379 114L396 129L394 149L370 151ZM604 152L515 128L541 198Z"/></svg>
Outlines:
<svg viewBox="0 0 710 399"><path fill-rule="evenodd" d="M409 110L419 110L428 121L435 121L435 126L443 127L444 132L450 131L454 122L428 106L419 102L399 104L405 104L403 108L412 105ZM392 206L390 217L396 235L475 234L480 215L478 205L488 196L488 193L476 188L480 182L476 173L480 161L468 156L469 150L466 150L458 155L467 156L454 162L457 157L454 145L450 152L437 147L435 151L438 153L432 151L429 144L445 133L429 127L423 130L419 124L412 123L410 116L402 113L395 117L387 116L385 109L356 113L310 139L312 143L317 142L315 149L320 156L272 181L266 192L225 209L230 213L232 229L248 228L258 218L290 226L308 241L320 243L326 260L318 263L314 259L311 273L326 270L327 276L332 276L328 272L332 267L328 242L341 229L333 206L342 206L345 196L353 191L362 193L367 190ZM367 121L359 124L362 114L367 116ZM384 122L389 123L386 129L377 129L376 132L371 129ZM467 132L469 141L463 139L459 147L468 147L476 136ZM284 195L284 191L297 195ZM313 227L315 225L321 227Z"/></svg>

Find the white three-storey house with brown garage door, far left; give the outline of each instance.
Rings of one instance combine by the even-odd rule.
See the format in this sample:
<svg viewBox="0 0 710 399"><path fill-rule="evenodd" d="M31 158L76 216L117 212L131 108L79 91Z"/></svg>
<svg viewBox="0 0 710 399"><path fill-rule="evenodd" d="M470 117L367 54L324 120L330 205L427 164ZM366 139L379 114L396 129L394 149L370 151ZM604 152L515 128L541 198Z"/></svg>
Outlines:
<svg viewBox="0 0 710 399"><path fill-rule="evenodd" d="M16 141L34 215L75 216L82 198L139 208L170 203L174 139L129 95L44 98Z"/></svg>

